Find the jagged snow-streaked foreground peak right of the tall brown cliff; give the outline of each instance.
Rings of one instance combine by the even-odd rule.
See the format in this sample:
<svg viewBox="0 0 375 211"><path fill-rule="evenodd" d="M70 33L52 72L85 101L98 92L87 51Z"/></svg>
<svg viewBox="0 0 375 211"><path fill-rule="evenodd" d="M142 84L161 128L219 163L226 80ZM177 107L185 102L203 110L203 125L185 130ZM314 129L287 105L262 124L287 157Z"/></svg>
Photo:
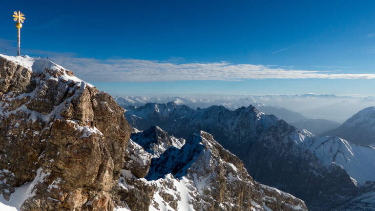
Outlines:
<svg viewBox="0 0 375 211"><path fill-rule="evenodd" d="M160 129L132 136L136 135L137 142L143 143L141 137L146 137L148 142L150 133L154 133L153 143L176 139ZM158 138L160 133L165 134L164 139ZM145 157L138 155L144 153L139 149L131 157L142 160ZM292 195L254 181L237 157L203 131L190 136L181 149L170 146L160 157L152 158L147 180L134 176L135 168L129 166L128 169L123 170L119 179L122 191L137 195L137 186L148 187L147 193L142 194L148 196L147 201L140 202L137 197L124 200L129 210L146 210L145 207L150 211L307 210L304 203Z"/></svg>

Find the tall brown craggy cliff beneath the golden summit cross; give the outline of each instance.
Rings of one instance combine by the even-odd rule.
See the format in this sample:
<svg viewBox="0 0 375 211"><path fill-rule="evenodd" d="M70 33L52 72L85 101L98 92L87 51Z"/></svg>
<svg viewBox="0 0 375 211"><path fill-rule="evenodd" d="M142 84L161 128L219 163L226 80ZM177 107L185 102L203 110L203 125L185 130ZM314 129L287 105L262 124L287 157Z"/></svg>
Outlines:
<svg viewBox="0 0 375 211"><path fill-rule="evenodd" d="M124 110L54 63L11 60L0 57L0 193L9 200L33 181L21 210L113 210L131 131Z"/></svg>

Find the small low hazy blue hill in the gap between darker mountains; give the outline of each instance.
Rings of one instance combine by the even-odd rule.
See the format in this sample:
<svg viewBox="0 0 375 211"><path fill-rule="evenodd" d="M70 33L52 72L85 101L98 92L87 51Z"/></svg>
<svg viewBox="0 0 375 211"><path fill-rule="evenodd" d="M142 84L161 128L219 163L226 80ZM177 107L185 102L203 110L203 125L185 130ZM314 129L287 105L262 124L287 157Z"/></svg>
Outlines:
<svg viewBox="0 0 375 211"><path fill-rule="evenodd" d="M287 121L288 122L288 121ZM294 127L304 128L312 132L314 135L319 135L322 132L331 130L340 126L339 123L325 120L325 119L304 119L298 122L290 122Z"/></svg>

